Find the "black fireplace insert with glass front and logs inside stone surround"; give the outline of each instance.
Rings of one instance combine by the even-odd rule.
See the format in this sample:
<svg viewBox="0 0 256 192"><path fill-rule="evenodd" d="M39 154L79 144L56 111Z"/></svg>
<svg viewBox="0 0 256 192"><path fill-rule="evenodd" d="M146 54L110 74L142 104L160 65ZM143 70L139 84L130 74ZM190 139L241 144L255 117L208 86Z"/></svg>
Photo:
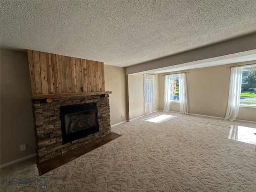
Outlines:
<svg viewBox="0 0 256 192"><path fill-rule="evenodd" d="M60 106L62 144L99 131L97 102Z"/></svg>

